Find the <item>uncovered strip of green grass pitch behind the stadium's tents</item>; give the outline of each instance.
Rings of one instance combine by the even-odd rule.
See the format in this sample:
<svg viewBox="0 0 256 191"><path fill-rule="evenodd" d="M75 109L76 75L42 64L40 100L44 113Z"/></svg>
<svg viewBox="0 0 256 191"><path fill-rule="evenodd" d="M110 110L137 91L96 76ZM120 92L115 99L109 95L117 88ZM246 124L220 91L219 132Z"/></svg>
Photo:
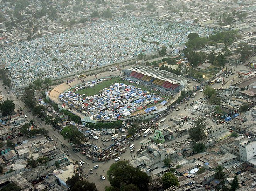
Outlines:
<svg viewBox="0 0 256 191"><path fill-rule="evenodd" d="M138 88L141 88L141 90L143 91L149 91L149 88L143 86L143 85L137 85L135 83L129 83L129 81L127 80L122 80L120 77L115 77L115 78L111 78L109 80L106 80L106 81L103 81L102 83L99 83L97 85L95 85L93 88L85 88L83 90L78 90L76 91L76 93L79 93L79 94L85 94L85 96L92 96L92 95L95 95L95 94L98 94L99 91L103 90L104 88L108 88L109 86L113 85L114 83L124 83L124 84L127 84L127 85L133 85L133 86L136 86ZM156 92L156 93L160 93L160 92Z"/></svg>

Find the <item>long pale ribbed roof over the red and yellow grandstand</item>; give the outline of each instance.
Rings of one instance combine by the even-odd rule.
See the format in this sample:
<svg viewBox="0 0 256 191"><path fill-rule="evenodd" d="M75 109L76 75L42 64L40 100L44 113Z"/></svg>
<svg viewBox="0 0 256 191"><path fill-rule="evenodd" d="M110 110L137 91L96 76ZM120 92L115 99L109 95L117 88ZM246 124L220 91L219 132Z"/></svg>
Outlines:
<svg viewBox="0 0 256 191"><path fill-rule="evenodd" d="M129 70L136 71L138 73L141 73L141 74L153 77L153 78L168 81L172 84L178 84L183 81L187 81L187 79L182 76L173 74L173 73L165 71L165 70L151 68L148 66L136 66L136 67L130 68Z"/></svg>

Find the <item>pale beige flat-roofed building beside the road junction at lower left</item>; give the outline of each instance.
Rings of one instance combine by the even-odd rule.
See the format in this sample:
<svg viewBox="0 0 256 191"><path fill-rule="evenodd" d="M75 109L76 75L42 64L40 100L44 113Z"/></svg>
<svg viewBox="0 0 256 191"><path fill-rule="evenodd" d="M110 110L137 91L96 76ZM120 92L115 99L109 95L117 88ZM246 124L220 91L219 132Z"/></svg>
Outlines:
<svg viewBox="0 0 256 191"><path fill-rule="evenodd" d="M59 180L59 183L65 187L68 187L67 181L69 177L72 177L76 173L76 166L70 164L61 168L60 170L54 170L53 175L56 176Z"/></svg>

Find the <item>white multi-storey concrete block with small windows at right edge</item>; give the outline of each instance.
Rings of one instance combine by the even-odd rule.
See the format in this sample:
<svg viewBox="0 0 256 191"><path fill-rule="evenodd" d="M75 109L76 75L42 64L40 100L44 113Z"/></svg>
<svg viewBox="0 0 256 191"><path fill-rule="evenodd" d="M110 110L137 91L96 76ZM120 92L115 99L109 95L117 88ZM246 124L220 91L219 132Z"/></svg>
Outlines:
<svg viewBox="0 0 256 191"><path fill-rule="evenodd" d="M256 141L242 141L239 143L239 152L241 161L249 161L256 158Z"/></svg>

